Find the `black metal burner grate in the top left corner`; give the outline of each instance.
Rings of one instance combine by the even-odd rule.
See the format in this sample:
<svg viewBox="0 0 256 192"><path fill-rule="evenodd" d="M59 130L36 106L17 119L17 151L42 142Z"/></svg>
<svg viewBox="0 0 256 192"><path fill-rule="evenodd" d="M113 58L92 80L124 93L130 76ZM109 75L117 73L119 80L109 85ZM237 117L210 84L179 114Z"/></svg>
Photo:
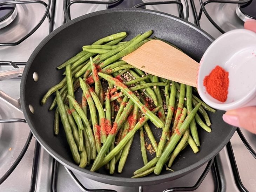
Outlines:
<svg viewBox="0 0 256 192"><path fill-rule="evenodd" d="M24 40L26 40L29 36L31 36L43 23L43 21L45 20L46 16L48 18L48 21L50 22L50 29L49 31L51 32L53 29L53 10L55 9L55 0L53 0L52 5L54 5L54 7L52 7L52 13L50 15L49 10L50 10L50 5L51 5L51 0L48 0L48 3L46 4L44 1L41 0L33 0L33 1L6 1L6 2L2 2L0 3L0 7L4 6L4 5L18 5L18 4L42 4L45 6L46 10L45 13L43 14L41 20L39 21L39 23L24 37L22 37L20 40L13 42L13 43L0 43L0 46L15 46L20 44L21 42L23 42Z"/></svg>

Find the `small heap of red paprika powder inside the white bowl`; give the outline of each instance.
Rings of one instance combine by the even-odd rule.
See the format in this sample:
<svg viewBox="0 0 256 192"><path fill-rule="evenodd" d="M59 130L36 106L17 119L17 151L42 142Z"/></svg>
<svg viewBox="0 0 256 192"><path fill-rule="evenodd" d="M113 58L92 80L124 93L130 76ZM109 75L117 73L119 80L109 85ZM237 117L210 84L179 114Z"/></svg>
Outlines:
<svg viewBox="0 0 256 192"><path fill-rule="evenodd" d="M216 66L208 76L204 77L203 85L208 94L218 101L225 102L228 97L228 72Z"/></svg>

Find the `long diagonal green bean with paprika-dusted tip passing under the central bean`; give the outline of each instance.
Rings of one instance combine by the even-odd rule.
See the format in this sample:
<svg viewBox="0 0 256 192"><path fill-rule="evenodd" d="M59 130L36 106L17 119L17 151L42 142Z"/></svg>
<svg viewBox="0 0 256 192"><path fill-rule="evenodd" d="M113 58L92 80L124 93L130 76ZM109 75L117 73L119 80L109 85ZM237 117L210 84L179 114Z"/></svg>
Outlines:
<svg viewBox="0 0 256 192"><path fill-rule="evenodd" d="M162 106L156 107L152 112L155 113L157 112ZM119 151L129 142L129 140L134 136L137 130L139 130L147 121L148 121L147 116L143 116L138 123L136 123L135 127L127 133L127 135L120 141L116 147L108 153L108 155L105 156L103 161L101 162L101 165L105 165L108 163ZM99 167L97 167L99 168Z"/></svg>

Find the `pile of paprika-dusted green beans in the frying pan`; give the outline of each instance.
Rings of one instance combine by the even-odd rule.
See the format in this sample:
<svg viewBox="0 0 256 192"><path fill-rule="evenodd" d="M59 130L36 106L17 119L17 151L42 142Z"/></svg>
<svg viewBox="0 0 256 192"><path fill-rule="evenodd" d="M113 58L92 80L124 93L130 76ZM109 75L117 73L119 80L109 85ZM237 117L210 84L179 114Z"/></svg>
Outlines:
<svg viewBox="0 0 256 192"><path fill-rule="evenodd" d="M211 132L206 110L215 110L196 96L196 88L144 73L121 60L152 40L152 34L149 30L130 41L122 41L126 32L104 37L83 46L80 53L57 67L65 69L65 77L48 90L41 104L56 93L49 108L56 107L54 134L58 135L61 120L74 162L80 167L93 160L91 171L105 166L113 174L118 163L121 173L139 131L144 166L134 171L133 178L152 172L159 175L163 165L171 167L187 145L199 152L197 125ZM79 87L82 100L76 101ZM148 120L155 129L162 128L159 142ZM149 162L144 131L156 153Z"/></svg>

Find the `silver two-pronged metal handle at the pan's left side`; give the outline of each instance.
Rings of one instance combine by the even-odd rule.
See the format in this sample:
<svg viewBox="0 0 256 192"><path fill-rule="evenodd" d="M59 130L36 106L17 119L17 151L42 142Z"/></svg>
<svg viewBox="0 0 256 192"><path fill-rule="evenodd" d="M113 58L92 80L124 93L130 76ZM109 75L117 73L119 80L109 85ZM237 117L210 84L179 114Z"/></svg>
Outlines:
<svg viewBox="0 0 256 192"><path fill-rule="evenodd" d="M24 70L24 67L19 67L19 68L7 70L7 71L1 71L0 81L14 78L14 77L20 77L23 73L23 70ZM21 111L20 98L14 99L1 90L0 90L0 97Z"/></svg>

